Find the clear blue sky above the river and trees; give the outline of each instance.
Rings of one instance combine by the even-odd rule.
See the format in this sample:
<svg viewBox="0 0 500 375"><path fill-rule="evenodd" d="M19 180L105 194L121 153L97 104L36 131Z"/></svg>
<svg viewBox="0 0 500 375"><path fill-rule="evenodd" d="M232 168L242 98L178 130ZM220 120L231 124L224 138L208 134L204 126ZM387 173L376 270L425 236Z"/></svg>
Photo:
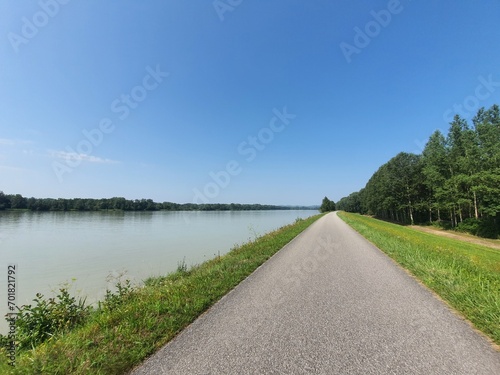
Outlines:
<svg viewBox="0 0 500 375"><path fill-rule="evenodd" d="M0 1L0 190L338 200L500 103L499 19L495 0Z"/></svg>

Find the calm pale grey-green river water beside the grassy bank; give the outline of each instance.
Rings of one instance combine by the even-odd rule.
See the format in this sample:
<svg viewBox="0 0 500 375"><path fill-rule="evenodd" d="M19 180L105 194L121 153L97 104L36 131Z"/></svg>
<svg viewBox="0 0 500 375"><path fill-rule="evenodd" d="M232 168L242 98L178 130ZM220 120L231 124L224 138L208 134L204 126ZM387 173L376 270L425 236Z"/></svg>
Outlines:
<svg viewBox="0 0 500 375"><path fill-rule="evenodd" d="M179 263L199 264L313 210L212 212L1 212L0 332L7 325L7 268L17 304L68 284L95 302L118 280L140 283Z"/></svg>

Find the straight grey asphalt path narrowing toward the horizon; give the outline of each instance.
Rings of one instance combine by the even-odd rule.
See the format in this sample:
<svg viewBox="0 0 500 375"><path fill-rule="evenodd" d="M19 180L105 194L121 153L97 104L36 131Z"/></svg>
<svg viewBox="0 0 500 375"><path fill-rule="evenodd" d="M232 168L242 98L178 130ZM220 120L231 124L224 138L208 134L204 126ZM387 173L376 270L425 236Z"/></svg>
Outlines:
<svg viewBox="0 0 500 375"><path fill-rule="evenodd" d="M500 353L331 213L139 374L500 374Z"/></svg>

